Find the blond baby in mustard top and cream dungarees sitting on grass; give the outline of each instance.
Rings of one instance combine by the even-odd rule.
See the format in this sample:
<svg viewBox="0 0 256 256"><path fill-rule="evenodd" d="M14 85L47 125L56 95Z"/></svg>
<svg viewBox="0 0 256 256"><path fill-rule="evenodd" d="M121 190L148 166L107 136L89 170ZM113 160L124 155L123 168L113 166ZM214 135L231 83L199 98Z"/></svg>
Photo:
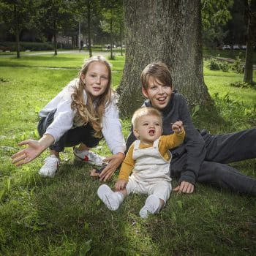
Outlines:
<svg viewBox="0 0 256 256"><path fill-rule="evenodd" d="M183 142L185 131L182 121L176 121L172 125L174 133L162 136L162 116L154 108L136 110L132 125L137 140L130 146L121 165L116 192L104 184L97 193L112 211L116 211L131 192L147 194L146 203L140 209L140 217L146 218L148 214L158 213L170 197L171 155L168 149Z"/></svg>

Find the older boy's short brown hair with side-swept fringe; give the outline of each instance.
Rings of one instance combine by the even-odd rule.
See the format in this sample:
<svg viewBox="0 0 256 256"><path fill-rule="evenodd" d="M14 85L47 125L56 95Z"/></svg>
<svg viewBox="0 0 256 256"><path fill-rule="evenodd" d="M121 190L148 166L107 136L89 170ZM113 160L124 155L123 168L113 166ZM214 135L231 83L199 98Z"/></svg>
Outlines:
<svg viewBox="0 0 256 256"><path fill-rule="evenodd" d="M140 81L144 89L148 89L148 79L153 77L165 86L173 87L173 79L170 70L163 62L153 62L143 69L140 75Z"/></svg>

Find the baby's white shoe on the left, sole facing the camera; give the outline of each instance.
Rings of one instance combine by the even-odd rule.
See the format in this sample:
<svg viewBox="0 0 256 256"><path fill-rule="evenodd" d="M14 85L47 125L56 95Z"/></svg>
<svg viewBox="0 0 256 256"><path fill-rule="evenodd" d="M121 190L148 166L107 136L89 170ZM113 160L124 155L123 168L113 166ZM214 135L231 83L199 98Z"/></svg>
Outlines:
<svg viewBox="0 0 256 256"><path fill-rule="evenodd" d="M110 187L105 184L99 187L97 194L111 211L116 211L122 202L121 197L118 196L118 192L113 192Z"/></svg>

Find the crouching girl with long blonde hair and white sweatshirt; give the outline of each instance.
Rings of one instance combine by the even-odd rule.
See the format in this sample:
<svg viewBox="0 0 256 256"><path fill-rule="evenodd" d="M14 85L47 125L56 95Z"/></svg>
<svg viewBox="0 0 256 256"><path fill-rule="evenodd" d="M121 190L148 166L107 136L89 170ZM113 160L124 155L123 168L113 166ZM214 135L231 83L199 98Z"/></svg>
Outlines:
<svg viewBox="0 0 256 256"><path fill-rule="evenodd" d="M124 159L125 143L116 107L116 95L110 87L110 64L102 56L94 56L83 64L79 78L72 80L39 112L38 131L41 138L18 143L28 145L12 156L12 163L23 165L50 148L50 157L39 170L41 176L53 177L59 167L59 152L74 147L75 157L93 165L103 159L89 151L97 146L102 135L111 157L104 159L107 167L99 175L107 181Z"/></svg>

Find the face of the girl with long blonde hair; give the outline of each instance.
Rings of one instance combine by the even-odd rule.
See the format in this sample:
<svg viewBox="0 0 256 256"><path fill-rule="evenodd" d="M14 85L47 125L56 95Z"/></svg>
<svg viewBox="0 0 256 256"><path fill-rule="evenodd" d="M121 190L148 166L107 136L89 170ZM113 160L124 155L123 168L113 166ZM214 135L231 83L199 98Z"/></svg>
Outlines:
<svg viewBox="0 0 256 256"><path fill-rule="evenodd" d="M91 62L85 75L81 75L86 92L92 99L97 99L108 88L108 67L102 62Z"/></svg>

